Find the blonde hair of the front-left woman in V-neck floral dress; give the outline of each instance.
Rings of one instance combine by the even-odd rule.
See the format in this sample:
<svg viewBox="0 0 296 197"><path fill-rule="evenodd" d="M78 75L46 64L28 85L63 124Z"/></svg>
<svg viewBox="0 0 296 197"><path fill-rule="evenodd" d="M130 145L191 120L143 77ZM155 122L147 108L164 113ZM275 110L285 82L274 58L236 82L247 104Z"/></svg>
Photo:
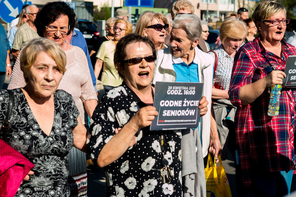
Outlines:
<svg viewBox="0 0 296 197"><path fill-rule="evenodd" d="M31 40L22 50L20 54L20 69L24 74L29 74L31 66L36 61L37 56L45 52L49 55L57 64L60 73L66 72L66 54L62 48L46 38L35 38ZM27 80L27 79L26 79Z"/></svg>

